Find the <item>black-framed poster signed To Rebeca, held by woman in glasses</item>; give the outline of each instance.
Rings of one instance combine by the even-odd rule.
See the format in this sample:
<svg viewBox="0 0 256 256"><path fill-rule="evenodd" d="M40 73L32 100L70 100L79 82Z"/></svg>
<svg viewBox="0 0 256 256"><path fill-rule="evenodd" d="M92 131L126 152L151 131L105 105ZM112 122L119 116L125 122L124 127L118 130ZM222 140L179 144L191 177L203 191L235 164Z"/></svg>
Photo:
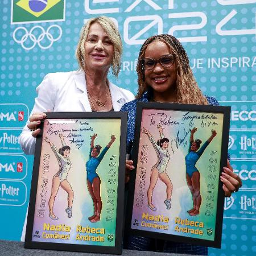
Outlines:
<svg viewBox="0 0 256 256"><path fill-rule="evenodd" d="M131 234L220 247L230 108L137 104Z"/></svg>

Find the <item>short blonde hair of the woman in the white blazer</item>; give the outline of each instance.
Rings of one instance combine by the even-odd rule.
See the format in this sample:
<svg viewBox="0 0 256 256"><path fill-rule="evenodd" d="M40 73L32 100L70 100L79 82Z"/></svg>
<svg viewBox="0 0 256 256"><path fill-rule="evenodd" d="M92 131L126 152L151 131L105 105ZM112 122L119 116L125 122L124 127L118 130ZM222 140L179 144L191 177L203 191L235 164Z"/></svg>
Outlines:
<svg viewBox="0 0 256 256"><path fill-rule="evenodd" d="M114 22L106 17L106 16L99 16L96 18L91 18L88 22L82 27L79 43L77 44L76 48L76 58L79 63L79 68L85 72L85 41L87 39L90 26L93 23L99 23L101 27L105 30L106 34L109 36L110 41L114 46L114 53L112 59L112 71L116 77L118 77L118 73L121 69L121 55L122 55L122 40L119 34L117 27L115 27Z"/></svg>

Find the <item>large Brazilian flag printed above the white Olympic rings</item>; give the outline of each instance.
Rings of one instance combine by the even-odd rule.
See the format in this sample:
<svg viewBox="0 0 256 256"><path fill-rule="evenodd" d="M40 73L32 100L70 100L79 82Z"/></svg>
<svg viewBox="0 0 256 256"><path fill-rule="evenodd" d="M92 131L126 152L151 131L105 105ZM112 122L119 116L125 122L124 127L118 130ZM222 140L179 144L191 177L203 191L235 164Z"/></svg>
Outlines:
<svg viewBox="0 0 256 256"><path fill-rule="evenodd" d="M64 0L13 0L11 24L65 20Z"/></svg>

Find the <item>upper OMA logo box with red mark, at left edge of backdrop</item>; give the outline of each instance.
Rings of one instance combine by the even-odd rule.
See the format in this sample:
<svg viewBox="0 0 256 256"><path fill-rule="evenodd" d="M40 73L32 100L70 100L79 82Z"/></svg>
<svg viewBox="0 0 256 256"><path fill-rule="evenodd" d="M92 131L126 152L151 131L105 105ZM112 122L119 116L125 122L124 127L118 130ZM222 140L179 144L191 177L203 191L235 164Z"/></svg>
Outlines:
<svg viewBox="0 0 256 256"><path fill-rule="evenodd" d="M28 107L25 104L0 104L1 129L22 129L28 119Z"/></svg>

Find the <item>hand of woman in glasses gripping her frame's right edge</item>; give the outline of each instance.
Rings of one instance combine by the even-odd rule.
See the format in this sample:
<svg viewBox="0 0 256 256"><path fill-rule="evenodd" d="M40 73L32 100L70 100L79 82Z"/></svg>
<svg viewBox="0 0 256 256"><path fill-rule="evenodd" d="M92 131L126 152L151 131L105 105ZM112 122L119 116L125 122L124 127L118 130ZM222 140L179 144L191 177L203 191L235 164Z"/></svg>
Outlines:
<svg viewBox="0 0 256 256"><path fill-rule="evenodd" d="M242 187L242 180L233 172L233 168L230 165L229 160L227 167L223 167L220 179L223 183L222 189L224 190L226 197L230 197L233 192L237 192L238 189Z"/></svg>

